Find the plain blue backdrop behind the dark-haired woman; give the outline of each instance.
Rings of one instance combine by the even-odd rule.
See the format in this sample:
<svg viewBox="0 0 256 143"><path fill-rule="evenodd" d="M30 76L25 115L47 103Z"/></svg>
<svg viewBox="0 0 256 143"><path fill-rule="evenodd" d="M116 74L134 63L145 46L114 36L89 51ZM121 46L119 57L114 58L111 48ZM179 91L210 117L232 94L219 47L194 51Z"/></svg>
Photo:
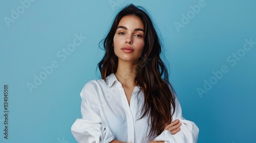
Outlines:
<svg viewBox="0 0 256 143"><path fill-rule="evenodd" d="M190 6L199 2L37 0L23 9L19 1L1 1L0 142L76 142L70 128L81 117L83 85L99 78L96 66L104 51L98 43L116 12L130 3L145 7L158 27L170 82L183 116L200 129L198 142L256 142L256 44L243 51L245 39L256 41L256 1L206 0L191 15ZM11 9L20 14L6 22L6 17L12 19ZM182 24L182 14L190 14L190 19L177 28L175 22ZM63 54L75 34L87 38L63 60L57 53ZM232 57L237 52L239 60ZM34 84L34 75L52 61L58 67L30 91L27 84ZM222 66L228 72L214 80L212 72ZM205 90L210 79L214 84ZM9 85L9 139L3 134L5 84ZM206 92L200 96L198 88Z"/></svg>

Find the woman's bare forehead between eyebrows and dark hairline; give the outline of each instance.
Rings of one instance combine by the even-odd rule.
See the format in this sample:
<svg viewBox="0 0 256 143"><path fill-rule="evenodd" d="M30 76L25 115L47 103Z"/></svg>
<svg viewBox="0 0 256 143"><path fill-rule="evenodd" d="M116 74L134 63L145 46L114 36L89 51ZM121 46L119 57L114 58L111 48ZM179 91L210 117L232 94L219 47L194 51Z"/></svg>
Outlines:
<svg viewBox="0 0 256 143"><path fill-rule="evenodd" d="M121 18L118 26L124 26L127 28L141 28L144 29L142 20L134 15L126 15Z"/></svg>

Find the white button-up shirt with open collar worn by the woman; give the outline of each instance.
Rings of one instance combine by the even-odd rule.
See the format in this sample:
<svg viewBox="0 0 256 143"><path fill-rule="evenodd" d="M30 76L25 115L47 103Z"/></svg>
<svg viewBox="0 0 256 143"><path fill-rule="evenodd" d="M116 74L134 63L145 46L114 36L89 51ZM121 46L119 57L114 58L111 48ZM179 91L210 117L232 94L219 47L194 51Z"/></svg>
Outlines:
<svg viewBox="0 0 256 143"><path fill-rule="evenodd" d="M158 136L148 136L151 129L151 123L147 122L149 116L140 118L144 104L143 91L135 86L129 106L124 89L115 74L109 75L106 82L100 79L86 83L80 97L82 118L78 118L71 127L78 142L111 142L114 139L133 143L153 139L165 143L197 142L199 129L195 123L183 118L177 97L173 121L180 120L181 130L175 135L165 130Z"/></svg>

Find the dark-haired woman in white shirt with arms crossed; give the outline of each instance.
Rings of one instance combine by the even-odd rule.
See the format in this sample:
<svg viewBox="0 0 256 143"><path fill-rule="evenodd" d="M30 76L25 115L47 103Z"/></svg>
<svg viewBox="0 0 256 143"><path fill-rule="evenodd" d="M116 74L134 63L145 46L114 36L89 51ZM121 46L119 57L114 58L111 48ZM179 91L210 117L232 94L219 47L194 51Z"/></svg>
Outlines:
<svg viewBox="0 0 256 143"><path fill-rule="evenodd" d="M78 142L196 142L199 129L182 117L160 58L151 18L129 5L104 39L101 80L84 85L82 118L71 131ZM161 78L162 77L162 78Z"/></svg>

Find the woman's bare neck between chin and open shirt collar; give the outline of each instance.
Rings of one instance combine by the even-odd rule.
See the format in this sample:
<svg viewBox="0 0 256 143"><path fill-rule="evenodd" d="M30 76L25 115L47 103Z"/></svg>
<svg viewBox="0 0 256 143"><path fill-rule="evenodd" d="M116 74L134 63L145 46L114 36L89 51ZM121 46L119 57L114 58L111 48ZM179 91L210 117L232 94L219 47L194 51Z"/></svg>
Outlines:
<svg viewBox="0 0 256 143"><path fill-rule="evenodd" d="M119 60L115 75L117 77L117 80L123 86L136 86L135 84L135 77L137 75L136 63Z"/></svg>

